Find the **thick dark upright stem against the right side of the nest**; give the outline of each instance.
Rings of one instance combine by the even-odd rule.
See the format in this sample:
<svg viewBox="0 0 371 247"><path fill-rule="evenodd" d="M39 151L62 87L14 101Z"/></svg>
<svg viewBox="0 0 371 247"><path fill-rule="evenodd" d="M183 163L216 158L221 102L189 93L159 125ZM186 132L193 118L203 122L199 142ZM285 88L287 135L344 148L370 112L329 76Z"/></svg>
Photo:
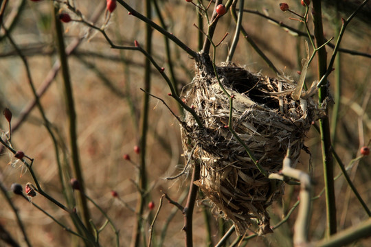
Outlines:
<svg viewBox="0 0 371 247"><path fill-rule="evenodd" d="M320 47L325 43L324 31L322 27L322 7L321 0L313 0L313 24L314 24L314 36L315 45ZM322 47L317 51L317 63L318 63L318 80L321 80L322 76L327 71L327 52L326 47ZM322 104L328 96L328 83L319 87L319 104ZM326 116L328 116L328 110L326 109ZM322 145L322 161L324 165L324 183L326 193L326 215L327 215L327 230L326 235L333 235L336 233L337 221L336 221L336 205L335 205L335 189L334 189L334 172L333 172L333 156L331 154L331 138L330 138L330 123L328 117L319 119L319 130L321 133L321 145Z"/></svg>

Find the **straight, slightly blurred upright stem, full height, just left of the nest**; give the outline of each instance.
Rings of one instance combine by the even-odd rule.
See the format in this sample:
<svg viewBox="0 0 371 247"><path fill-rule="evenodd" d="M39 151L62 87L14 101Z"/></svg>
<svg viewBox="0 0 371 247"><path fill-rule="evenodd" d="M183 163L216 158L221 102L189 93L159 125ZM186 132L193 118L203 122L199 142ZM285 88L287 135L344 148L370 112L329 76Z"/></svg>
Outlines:
<svg viewBox="0 0 371 247"><path fill-rule="evenodd" d="M151 19L151 8L150 0L145 0L146 17ZM146 25L146 52L149 56L152 55L152 27ZM144 63L144 91L150 93L150 60L146 58ZM144 93L143 95L143 105L142 105L142 120L140 123L141 133L139 139L140 148L140 161L139 161L139 198L137 202L137 221L135 223L135 228L133 231L133 238L131 246L139 246L140 235L143 225L142 214L144 211L144 205L146 203L147 189L147 175L146 175L146 143L147 143L147 132L148 132L148 109L149 109L149 94Z"/></svg>

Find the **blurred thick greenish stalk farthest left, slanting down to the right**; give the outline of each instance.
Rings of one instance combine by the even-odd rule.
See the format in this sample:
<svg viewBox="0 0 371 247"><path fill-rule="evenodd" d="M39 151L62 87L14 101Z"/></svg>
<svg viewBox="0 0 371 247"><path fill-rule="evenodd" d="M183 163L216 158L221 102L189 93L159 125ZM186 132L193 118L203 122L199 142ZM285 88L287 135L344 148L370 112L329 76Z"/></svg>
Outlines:
<svg viewBox="0 0 371 247"><path fill-rule="evenodd" d="M71 156L72 163L74 167L74 172L76 179L80 184L80 191L78 195L80 196L80 211L82 214L82 219L85 223L85 226L88 228L90 233L93 233L91 228L90 213L89 208L87 207L87 199L85 198L85 183L82 176L82 170L80 166L80 157L78 151L77 143L77 131L76 131L76 111L74 105L74 94L72 91L71 80L69 78L69 67L67 62L67 54L65 53L65 43L63 38L63 27L62 23L58 18L58 6L54 7L54 23L56 26L56 38L58 42L58 52L60 58L60 67L62 69L63 85L65 87L65 101L67 106L67 115L69 116L69 142L71 145Z"/></svg>

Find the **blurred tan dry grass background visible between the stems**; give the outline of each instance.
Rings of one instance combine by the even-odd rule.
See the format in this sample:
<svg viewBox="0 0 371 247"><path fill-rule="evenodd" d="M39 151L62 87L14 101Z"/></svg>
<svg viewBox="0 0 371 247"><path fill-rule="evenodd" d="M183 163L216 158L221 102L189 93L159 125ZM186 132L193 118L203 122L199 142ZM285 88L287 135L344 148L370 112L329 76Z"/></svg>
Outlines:
<svg viewBox="0 0 371 247"><path fill-rule="evenodd" d="M15 5L12 1L10 6ZM93 10L98 8L104 1L76 1L76 6L85 15L89 16ZM143 1L127 1L139 12L143 12ZM289 0L291 8L302 12L302 6L298 1ZM279 1L247 1L245 8L251 10L267 10L274 19L283 21L293 27L299 27L297 21L288 18L292 16L287 12L282 12L278 7ZM193 5L186 1L159 1L164 17L169 26L170 32L178 36L184 43L192 49L197 50L196 38L198 31L192 26L196 22L196 12ZM49 1L40 3L25 3L25 10L19 19L19 23L12 32L16 43L26 49L32 78L36 87L41 85L45 75L52 68L56 60L56 48L54 39L54 28L51 24L51 5ZM325 30L326 37L334 35L333 10L325 9L326 18ZM348 12L347 14L350 14ZM342 16L347 16L343 14ZM100 23L102 23L102 18ZM154 21L158 22L154 15ZM309 22L311 23L311 21ZM80 23L65 24L65 42L68 44L76 36L82 36L87 27ZM296 71L301 67L297 59L297 43L300 44L301 53L299 58L304 58L304 39L295 38L285 32L278 25L272 25L267 20L254 14L245 14L243 26L256 40L260 48L271 58L276 67L286 75L291 75L297 79ZM371 54L370 25L355 20L348 27L349 30L361 32L346 32L344 43L341 47L362 51ZM107 28L109 36L116 44L133 45L133 40L144 43L144 23L135 17L129 16L127 11L120 5L113 14L111 23ZM234 33L234 21L230 14L223 16L218 23L217 32L214 40L220 40L225 32L229 36L218 48L218 62L226 58L228 44L231 43ZM234 62L244 65L251 71L261 71L263 74L274 76L273 72L267 67L256 52L251 49L248 43L240 37L240 43L236 50ZM42 45L40 45L42 44ZM153 47L155 60L166 69L166 56L164 52L164 38L159 33L153 34ZM193 61L183 51L171 44L172 57L176 70L176 76L181 84L186 85L193 77ZM327 48L328 54L332 49ZM7 54L12 51L12 47L6 40L1 41L0 54ZM52 51L49 53L49 51ZM87 55L90 54L90 55ZM122 62L124 58L128 62ZM95 69L100 71L106 80L115 86L109 89L104 84L95 69L82 64L81 59L91 62ZM363 125L359 124L362 117L370 117L369 98L371 94L370 84L370 58L362 56L352 56L341 54L341 79L342 79L342 103L339 112L337 128L337 139L335 147L344 163L349 163L352 158L359 155L360 141L364 140L367 144L371 138L370 119L363 118ZM1 108L8 107L12 110L14 119L21 113L23 107L32 101L30 86L25 83L26 75L21 60L17 56L0 57L0 104ZM143 64L144 57L135 51L119 51L111 49L100 34L96 34L85 40L77 51L69 57L69 67L71 71L71 81L74 86L74 97L76 99L76 111L78 115L78 144L80 147L82 169L84 172L87 193L114 219L117 228L120 229L120 242L126 246L131 239L131 232L135 222L135 215L123 204L111 196L111 189L117 191L122 200L135 208L137 191L131 180L136 180L137 169L122 158L123 154L130 154L134 162L138 161L138 156L133 151L133 146L137 145L139 130L137 117L140 115L142 104L143 86ZM316 78L315 62L308 71L308 81ZM333 82L333 75L330 81ZM333 87L331 88L333 90ZM117 94L120 91L122 95ZM154 95L162 97L170 105L172 110L178 113L175 101L168 97L169 89L164 80L159 77L159 73L153 73ZM135 115L131 114L128 99L133 104ZM58 76L41 98L45 108L47 118L58 128L62 145L67 145L67 115L65 111L63 86ZM348 103L347 103L348 102ZM350 102L350 104L349 104ZM366 102L366 103L365 103ZM364 105L366 104L366 105ZM357 113L357 106L363 106L365 112ZM361 115L359 115L361 114ZM5 119L1 118L0 127L7 129ZM25 154L35 159L34 170L41 181L41 186L54 198L63 202L63 194L60 191L58 181L58 170L55 161L54 148L47 131L42 125L38 110L32 113L23 123L19 130L12 135L12 142L16 150L23 150ZM150 134L148 136L148 176L150 181L150 196L155 202L156 207L161 197L161 191L168 193L170 198L178 200L183 191L187 190L189 180L183 176L179 180L166 180L168 176L177 174L183 167L182 150L180 144L179 126L177 120L170 115L164 105L157 99L150 99ZM319 144L319 134L312 130L308 133L306 145L311 151L311 156L303 152L299 164L300 168L308 171L308 167L313 169L313 180L315 182L314 194L317 195L323 188L322 181L322 156ZM68 155L68 151L67 151ZM4 152L0 156L0 172L3 184L10 187L12 183L25 185L32 182L32 178L26 172L22 174L21 168L14 169L8 162L10 156ZM369 157L363 158L350 174L354 177L355 185L366 203L371 202L370 193L370 169L371 161ZM335 174L339 172L336 167ZM355 200L352 193L346 186L344 178L340 178L335 183L337 197L337 215L339 229L356 225L366 219L367 215L363 212L359 202ZM297 190L293 187L286 187L285 203L291 207L295 202ZM16 207L19 208L21 219L26 224L26 231L32 239L34 246L73 246L76 239L69 233L63 231L60 226L37 211L32 204L27 204L21 198L12 198ZM14 214L10 211L8 204L4 203L3 196L0 196L0 223L7 228L10 233L21 242L21 233L14 221ZM45 200L41 196L36 196L33 202L41 205L43 209L57 217L66 224L71 224L69 218L63 211L60 211L54 204ZM323 237L326 227L326 211L324 198L319 198L313 202L313 215L310 231L310 238L320 239ZM201 202L199 203L201 205ZM89 204L92 217L98 226L104 223L104 217ZM159 214L159 219L155 225L155 235L158 237L161 228L164 226L169 212L174 207L168 202L164 202ZM271 209L272 225L279 221L282 215L280 204L273 204ZM148 224L153 216L148 216L148 209L144 214L148 217ZM290 246L290 236L295 220L295 213L291 216L288 223L284 224L274 234L266 237L258 237L251 240L252 246ZM217 222L212 220L214 228L214 239L218 239ZM228 224L228 223L225 223ZM148 230L148 225L146 226ZM183 216L177 213L168 228L167 238L164 246L183 246ZM205 224L201 206L196 207L194 212L194 243L195 246L205 246ZM106 229L101 234L102 246L111 246L114 234L110 229ZM154 244L158 244L159 239L155 237ZM233 238L232 238L233 239ZM1 243L0 243L1 246ZM357 246L366 246L366 242L359 242Z"/></svg>

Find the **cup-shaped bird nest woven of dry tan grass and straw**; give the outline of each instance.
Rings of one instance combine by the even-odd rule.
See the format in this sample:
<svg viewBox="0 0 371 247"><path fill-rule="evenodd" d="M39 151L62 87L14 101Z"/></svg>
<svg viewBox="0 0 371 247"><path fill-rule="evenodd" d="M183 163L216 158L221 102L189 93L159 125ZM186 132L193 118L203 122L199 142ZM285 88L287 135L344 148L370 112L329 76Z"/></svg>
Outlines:
<svg viewBox="0 0 371 247"><path fill-rule="evenodd" d="M229 95L234 95L233 129L258 163L269 174L278 173L289 146L291 160L297 161L314 117L311 101L293 100L295 84L289 80L267 78L231 64L217 67L217 73ZM201 165L201 179L195 184L218 215L234 222L240 235L252 224L260 235L271 232L267 207L282 197L282 183L263 176L226 128L229 98L214 73L198 68L190 86L185 97L203 128L188 113L181 129L186 162Z"/></svg>

